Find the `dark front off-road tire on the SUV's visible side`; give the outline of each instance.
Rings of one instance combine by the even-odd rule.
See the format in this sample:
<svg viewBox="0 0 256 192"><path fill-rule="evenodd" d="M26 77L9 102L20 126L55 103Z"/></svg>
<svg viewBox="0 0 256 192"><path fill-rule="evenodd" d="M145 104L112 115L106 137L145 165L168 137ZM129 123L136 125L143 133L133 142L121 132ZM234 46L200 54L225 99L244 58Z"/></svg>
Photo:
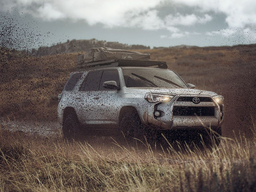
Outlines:
<svg viewBox="0 0 256 192"><path fill-rule="evenodd" d="M119 128L126 139L139 138L143 132L140 117L134 111L127 112L122 116Z"/></svg>

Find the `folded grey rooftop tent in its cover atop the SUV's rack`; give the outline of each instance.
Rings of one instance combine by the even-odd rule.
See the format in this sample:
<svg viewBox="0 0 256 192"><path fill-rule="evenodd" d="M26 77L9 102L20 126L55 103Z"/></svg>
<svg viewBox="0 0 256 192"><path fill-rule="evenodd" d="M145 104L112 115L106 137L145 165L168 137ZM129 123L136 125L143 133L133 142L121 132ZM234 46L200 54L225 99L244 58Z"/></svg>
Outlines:
<svg viewBox="0 0 256 192"><path fill-rule="evenodd" d="M122 49L112 49L108 47L87 49L84 55L77 56L78 64L85 64L104 60L146 60L150 61L150 54L143 54L135 51L126 51Z"/></svg>

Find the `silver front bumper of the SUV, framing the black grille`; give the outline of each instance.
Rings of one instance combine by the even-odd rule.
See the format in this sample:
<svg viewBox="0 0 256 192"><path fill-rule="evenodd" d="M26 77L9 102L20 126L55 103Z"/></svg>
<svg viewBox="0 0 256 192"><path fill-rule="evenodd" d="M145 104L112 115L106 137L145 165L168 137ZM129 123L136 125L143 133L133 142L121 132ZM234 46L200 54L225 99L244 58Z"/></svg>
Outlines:
<svg viewBox="0 0 256 192"><path fill-rule="evenodd" d="M180 101L179 98L187 98L186 101ZM224 110L219 106L212 97L200 95L199 98L206 98L206 102L195 104L188 101L188 97L199 97L198 95L176 95L169 102L151 104L144 112L144 122L151 127L156 127L159 130L174 130L174 129L202 129L203 127L211 127L217 129L221 126L224 117ZM192 109L199 114L193 114L193 111L180 112L177 114L177 108ZM209 109L209 110L208 110ZM161 116L154 116L154 111L160 111ZM211 112L209 112L211 111Z"/></svg>

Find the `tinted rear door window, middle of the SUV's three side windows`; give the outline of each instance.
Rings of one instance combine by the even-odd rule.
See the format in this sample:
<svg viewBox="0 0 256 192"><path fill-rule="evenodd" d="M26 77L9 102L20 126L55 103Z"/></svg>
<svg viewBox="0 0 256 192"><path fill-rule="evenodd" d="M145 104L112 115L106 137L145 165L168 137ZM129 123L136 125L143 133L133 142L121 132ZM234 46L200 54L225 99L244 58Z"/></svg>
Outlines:
<svg viewBox="0 0 256 192"><path fill-rule="evenodd" d="M102 71L89 72L79 91L98 91Z"/></svg>

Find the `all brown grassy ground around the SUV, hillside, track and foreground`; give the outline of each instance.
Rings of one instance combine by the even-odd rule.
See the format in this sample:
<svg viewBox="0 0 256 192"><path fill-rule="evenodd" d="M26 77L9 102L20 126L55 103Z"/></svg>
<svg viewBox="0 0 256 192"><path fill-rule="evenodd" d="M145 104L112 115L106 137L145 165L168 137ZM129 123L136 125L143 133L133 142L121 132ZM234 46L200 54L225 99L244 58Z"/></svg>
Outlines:
<svg viewBox="0 0 256 192"><path fill-rule="evenodd" d="M76 70L77 53L8 58L0 62L0 192L256 191L256 45L139 51L223 95L222 130L231 139L213 148L108 132L65 140L57 95Z"/></svg>

